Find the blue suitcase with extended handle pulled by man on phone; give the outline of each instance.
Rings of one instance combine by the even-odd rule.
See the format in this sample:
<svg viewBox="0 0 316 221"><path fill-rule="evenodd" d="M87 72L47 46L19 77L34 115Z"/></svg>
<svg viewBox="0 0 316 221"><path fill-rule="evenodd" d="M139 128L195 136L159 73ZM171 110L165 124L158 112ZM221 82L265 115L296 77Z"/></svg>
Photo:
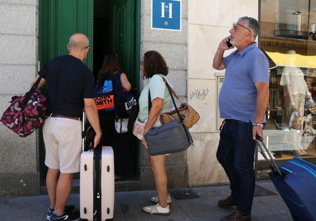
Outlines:
<svg viewBox="0 0 316 221"><path fill-rule="evenodd" d="M257 136L268 153L272 164L257 142L270 168L269 176L289 208L294 221L316 221L316 166L298 157L286 161L278 167L270 152Z"/></svg>

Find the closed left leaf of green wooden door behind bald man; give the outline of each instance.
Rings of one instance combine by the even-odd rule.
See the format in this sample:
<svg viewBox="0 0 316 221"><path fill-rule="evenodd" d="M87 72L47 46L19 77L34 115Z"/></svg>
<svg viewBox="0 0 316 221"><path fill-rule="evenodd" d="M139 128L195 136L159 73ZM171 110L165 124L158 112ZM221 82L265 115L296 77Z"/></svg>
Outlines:
<svg viewBox="0 0 316 221"><path fill-rule="evenodd" d="M68 54L67 44L72 34L83 33L89 38L90 50L85 64L93 67L93 0L39 0L40 65L60 55ZM39 162L41 178L45 179L45 145L39 131Z"/></svg>

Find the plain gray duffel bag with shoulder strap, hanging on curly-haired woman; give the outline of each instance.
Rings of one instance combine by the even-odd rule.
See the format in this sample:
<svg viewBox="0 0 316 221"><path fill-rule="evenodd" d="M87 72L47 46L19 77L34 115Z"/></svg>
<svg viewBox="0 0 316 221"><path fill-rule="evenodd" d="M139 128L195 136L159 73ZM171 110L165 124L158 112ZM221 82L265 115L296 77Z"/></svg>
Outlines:
<svg viewBox="0 0 316 221"><path fill-rule="evenodd" d="M166 83L172 102L176 108L175 99L171 93L170 86ZM150 91L148 93L148 112L151 108ZM145 140L148 146L148 152L151 156L177 153L185 151L193 144L192 136L183 123L183 118L176 108L179 120L172 121L150 129L145 134Z"/></svg>

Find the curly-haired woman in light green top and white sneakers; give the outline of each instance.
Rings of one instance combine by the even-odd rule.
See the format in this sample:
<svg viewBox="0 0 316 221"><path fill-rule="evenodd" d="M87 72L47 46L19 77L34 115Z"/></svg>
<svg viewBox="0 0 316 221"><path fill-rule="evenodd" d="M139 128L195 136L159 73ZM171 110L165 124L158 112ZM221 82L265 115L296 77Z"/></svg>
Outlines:
<svg viewBox="0 0 316 221"><path fill-rule="evenodd" d="M169 91L161 77L161 75L166 76L168 74L168 67L163 57L157 51L147 51L144 54L143 60L140 62L140 69L143 71L143 77L148 79L148 85L145 86L140 94L140 113L138 116L141 122L146 121L143 134L145 135L152 127L161 126L158 119L161 111L172 108L173 103ZM169 81L168 84L170 84ZM148 114L149 89L152 106ZM144 136L142 142L144 146L148 148ZM152 215L170 215L169 204L171 203L171 198L168 196L167 190L165 159L165 154L149 156L151 167L155 176L158 196L151 198L151 201L156 205L145 206L143 207L143 211Z"/></svg>

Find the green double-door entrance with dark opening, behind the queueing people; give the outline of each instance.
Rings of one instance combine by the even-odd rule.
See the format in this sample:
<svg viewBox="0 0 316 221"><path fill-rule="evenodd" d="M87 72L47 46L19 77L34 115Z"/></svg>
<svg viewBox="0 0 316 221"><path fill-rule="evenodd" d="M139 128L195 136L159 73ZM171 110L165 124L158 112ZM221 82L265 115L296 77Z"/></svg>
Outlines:
<svg viewBox="0 0 316 221"><path fill-rule="evenodd" d="M86 34L90 50L85 64L96 77L106 53L122 59L132 90L139 95L140 73L140 1L138 0L39 0L39 63L67 54L69 37ZM138 142L129 150L128 177L137 176ZM41 179L47 167L45 145L39 131Z"/></svg>

